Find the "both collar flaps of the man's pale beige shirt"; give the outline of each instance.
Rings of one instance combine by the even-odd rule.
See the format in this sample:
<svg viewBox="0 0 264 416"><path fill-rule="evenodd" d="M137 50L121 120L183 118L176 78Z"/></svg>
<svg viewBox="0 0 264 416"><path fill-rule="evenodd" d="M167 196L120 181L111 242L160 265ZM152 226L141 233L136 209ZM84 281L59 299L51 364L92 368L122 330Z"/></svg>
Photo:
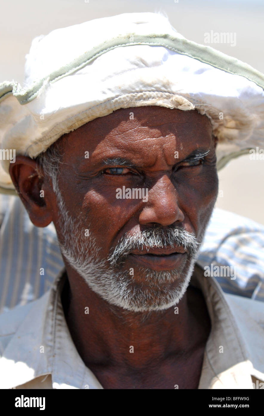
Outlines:
<svg viewBox="0 0 264 416"><path fill-rule="evenodd" d="M211 320L198 389L252 389L256 372L225 295L214 278L204 277L198 267L196 271L191 285L202 291ZM5 349L0 359L4 388L51 374L54 389L103 389L71 338L61 303L65 278L64 269L49 292L32 302Z"/></svg>

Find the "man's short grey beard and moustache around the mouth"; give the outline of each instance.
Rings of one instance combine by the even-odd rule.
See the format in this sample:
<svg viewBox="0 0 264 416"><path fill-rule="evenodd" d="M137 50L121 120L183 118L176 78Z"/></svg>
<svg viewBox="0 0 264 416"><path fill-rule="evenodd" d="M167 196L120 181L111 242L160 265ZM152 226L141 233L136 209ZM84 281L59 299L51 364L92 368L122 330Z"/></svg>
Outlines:
<svg viewBox="0 0 264 416"><path fill-rule="evenodd" d="M59 246L68 264L97 295L111 305L130 312L166 310L178 304L185 294L198 257L198 242L194 235L182 228L161 227L143 231L133 236L123 236L108 259L99 256L100 247L92 235L85 236L81 222L69 215L57 188L59 210ZM87 227L89 228L90 225ZM178 236L174 235L175 229ZM134 248L153 248L181 245L188 249L187 271L155 271L140 267L141 282L136 282L130 270L120 271L120 265ZM176 279L176 287L170 283ZM147 282L147 285L146 285Z"/></svg>

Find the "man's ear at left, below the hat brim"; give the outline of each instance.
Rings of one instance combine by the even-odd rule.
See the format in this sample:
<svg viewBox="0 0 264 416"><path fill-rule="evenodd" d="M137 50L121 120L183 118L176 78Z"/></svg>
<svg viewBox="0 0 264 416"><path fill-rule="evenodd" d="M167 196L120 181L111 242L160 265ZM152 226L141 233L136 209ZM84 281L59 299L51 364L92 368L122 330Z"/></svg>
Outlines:
<svg viewBox="0 0 264 416"><path fill-rule="evenodd" d="M52 202L56 198L51 183L37 169L37 162L16 156L15 163L10 163L9 173L32 223L36 227L49 225L53 219Z"/></svg>

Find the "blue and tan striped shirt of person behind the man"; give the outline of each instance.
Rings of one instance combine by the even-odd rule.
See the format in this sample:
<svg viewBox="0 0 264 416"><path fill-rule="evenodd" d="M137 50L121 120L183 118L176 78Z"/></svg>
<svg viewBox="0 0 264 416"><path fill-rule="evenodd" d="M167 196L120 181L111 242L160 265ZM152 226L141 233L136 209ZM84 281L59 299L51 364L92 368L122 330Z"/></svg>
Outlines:
<svg viewBox="0 0 264 416"><path fill-rule="evenodd" d="M215 276L222 290L264 301L263 225L213 210L197 262L235 268L235 279ZM20 198L0 195L0 313L41 297L63 268L53 223L35 227Z"/></svg>

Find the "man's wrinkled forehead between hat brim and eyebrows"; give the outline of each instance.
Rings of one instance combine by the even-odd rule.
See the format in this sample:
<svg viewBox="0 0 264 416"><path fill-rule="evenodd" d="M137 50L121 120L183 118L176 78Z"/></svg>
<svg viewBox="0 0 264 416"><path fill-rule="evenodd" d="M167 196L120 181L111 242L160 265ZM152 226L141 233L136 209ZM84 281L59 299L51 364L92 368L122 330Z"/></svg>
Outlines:
<svg viewBox="0 0 264 416"><path fill-rule="evenodd" d="M182 111L158 106L118 109L108 116L84 124L64 137L64 151L89 152L94 161L122 155L136 155L152 163L164 152L174 158L196 149L209 149L212 126L207 116L196 110ZM73 152L73 149L75 150Z"/></svg>

